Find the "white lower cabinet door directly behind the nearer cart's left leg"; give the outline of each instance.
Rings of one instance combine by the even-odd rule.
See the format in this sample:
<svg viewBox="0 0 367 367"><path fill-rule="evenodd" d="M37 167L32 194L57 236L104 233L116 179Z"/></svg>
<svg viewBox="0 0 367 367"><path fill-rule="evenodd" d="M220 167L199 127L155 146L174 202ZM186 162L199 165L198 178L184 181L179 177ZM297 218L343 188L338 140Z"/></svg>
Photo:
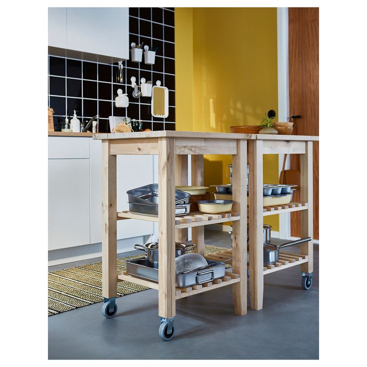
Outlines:
<svg viewBox="0 0 367 367"><path fill-rule="evenodd" d="M102 241L102 144L90 141L90 239ZM153 183L153 156L117 157L117 210L129 210L127 190ZM117 222L117 238L153 234L153 222L127 219Z"/></svg>

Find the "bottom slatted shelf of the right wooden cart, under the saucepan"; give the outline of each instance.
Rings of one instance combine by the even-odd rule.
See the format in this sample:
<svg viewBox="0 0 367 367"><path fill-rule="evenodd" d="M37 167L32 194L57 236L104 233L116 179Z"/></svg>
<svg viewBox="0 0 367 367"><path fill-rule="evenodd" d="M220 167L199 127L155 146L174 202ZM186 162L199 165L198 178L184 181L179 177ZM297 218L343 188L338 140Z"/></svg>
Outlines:
<svg viewBox="0 0 367 367"><path fill-rule="evenodd" d="M222 261L232 257L232 250L223 248L223 251L207 254L204 257L206 260ZM280 251L279 260L277 263L275 263L274 265L267 265L263 267L264 275L273 273L274 271L300 265L304 262L308 262L308 255Z"/></svg>

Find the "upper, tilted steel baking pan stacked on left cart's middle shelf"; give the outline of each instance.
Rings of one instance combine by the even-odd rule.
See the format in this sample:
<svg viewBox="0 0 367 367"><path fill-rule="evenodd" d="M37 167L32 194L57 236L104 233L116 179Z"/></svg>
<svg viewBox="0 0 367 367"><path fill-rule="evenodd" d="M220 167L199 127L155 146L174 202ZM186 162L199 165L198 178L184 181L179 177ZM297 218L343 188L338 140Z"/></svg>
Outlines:
<svg viewBox="0 0 367 367"><path fill-rule="evenodd" d="M148 205L158 205L158 184L150 184L126 191L129 202L142 203ZM184 191L175 190L176 205L188 204L190 194Z"/></svg>

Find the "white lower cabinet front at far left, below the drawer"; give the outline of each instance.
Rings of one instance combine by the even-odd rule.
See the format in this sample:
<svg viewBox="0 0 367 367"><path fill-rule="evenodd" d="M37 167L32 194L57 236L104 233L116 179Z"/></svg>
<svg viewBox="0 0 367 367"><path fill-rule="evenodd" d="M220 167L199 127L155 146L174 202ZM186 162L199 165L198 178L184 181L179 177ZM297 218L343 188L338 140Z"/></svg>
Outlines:
<svg viewBox="0 0 367 367"><path fill-rule="evenodd" d="M49 250L90 243L89 159L48 160L48 243Z"/></svg>

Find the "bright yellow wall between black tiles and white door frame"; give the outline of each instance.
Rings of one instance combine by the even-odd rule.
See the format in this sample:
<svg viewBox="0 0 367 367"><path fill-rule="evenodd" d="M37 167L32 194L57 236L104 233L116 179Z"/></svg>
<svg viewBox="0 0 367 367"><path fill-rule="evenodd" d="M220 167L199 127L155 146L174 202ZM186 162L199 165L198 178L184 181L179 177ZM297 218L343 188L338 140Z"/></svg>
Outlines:
<svg viewBox="0 0 367 367"><path fill-rule="evenodd" d="M278 110L276 8L175 8L176 130L230 132ZM204 184L229 183L231 156L204 157ZM264 183L278 157L264 156ZM279 230L278 217L266 218Z"/></svg>

